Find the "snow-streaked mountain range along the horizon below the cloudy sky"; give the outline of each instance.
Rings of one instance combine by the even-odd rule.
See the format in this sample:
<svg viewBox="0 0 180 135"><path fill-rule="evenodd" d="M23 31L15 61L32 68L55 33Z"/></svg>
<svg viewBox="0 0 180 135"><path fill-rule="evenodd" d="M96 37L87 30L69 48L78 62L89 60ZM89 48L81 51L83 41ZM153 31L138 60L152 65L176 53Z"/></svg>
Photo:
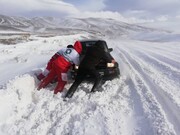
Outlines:
<svg viewBox="0 0 180 135"><path fill-rule="evenodd" d="M116 37L137 31L156 31L139 25L106 18L52 18L52 17L8 17L0 15L1 31L23 31L29 33L53 33L56 35L90 33L97 36Z"/></svg>

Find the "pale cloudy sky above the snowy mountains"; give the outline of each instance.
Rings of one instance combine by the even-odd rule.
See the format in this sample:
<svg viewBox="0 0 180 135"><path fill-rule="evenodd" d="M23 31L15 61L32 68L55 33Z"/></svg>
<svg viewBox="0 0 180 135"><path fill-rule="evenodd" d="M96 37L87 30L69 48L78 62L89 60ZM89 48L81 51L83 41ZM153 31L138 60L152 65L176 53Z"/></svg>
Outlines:
<svg viewBox="0 0 180 135"><path fill-rule="evenodd" d="M98 12L152 19L180 16L180 0L0 0L0 14L18 16L66 16Z"/></svg>

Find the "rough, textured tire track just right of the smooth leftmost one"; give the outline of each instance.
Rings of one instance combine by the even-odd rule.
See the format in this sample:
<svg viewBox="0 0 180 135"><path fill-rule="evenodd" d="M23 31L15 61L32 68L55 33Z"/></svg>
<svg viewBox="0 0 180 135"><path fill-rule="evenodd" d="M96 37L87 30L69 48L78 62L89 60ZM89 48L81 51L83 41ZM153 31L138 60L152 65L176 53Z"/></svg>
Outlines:
<svg viewBox="0 0 180 135"><path fill-rule="evenodd" d="M127 58L124 54L121 55L121 57L124 57L125 59ZM130 73L130 77L134 84L134 90L140 97L144 117L146 117L146 119L149 121L151 130L153 130L153 132L150 133L164 134L165 132L168 132L168 134L173 134L173 131L171 131L167 123L164 122L164 115L160 111L160 107L157 105L157 102L152 96L152 93L148 90L146 84L144 84L143 80L140 78L139 73L134 70L134 65L129 61L129 59L126 59L126 61L132 71ZM168 131L165 131L165 129L168 129Z"/></svg>

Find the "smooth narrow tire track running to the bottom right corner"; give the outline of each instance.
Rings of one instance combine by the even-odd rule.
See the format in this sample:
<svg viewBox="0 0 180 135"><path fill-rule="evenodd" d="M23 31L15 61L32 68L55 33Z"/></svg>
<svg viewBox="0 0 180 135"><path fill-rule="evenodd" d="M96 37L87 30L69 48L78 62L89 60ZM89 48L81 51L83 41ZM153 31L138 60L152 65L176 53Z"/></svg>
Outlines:
<svg viewBox="0 0 180 135"><path fill-rule="evenodd" d="M162 122L161 124L163 126L163 125L167 125L167 122L163 116L163 113L165 113L168 120L173 124L173 127L175 129L176 134L178 134L180 132L180 118L179 118L180 110L179 110L179 108L171 102L171 100L164 94L163 90L159 86L157 86L154 82L151 81L151 79L148 77L148 75L146 75L146 73L144 73L141 66L136 62L135 59L133 59L130 56L130 54L128 54L127 52L120 50L120 49L119 49L119 51L123 54L124 57L126 57L128 59L129 65L136 72L135 74L138 76L138 78L143 83L145 83L145 90L146 91L148 91L148 89L151 90L151 92L155 96L158 103L161 104L162 109L164 110L163 112L157 106L158 103L156 103L156 101L153 103L154 107L152 109L154 109L154 108L158 109L158 110L152 110L154 113L153 115L154 116L161 116L163 118L163 121L165 123L162 122L161 120L159 121L160 123ZM134 81L136 81L136 79ZM156 111L158 112L158 114L156 114L157 113ZM155 120L156 119L157 118L155 118ZM170 131L170 134L171 133L172 132Z"/></svg>

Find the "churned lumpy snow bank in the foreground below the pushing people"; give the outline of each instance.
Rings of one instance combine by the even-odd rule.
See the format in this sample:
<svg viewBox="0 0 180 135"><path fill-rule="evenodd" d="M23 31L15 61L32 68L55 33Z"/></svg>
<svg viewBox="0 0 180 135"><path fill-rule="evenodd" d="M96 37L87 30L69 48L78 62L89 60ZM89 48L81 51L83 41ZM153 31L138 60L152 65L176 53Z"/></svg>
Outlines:
<svg viewBox="0 0 180 135"><path fill-rule="evenodd" d="M30 74L16 77L0 91L0 132L2 134L119 134L126 129L122 120L131 116L128 87L124 79L106 82L103 92L87 93L92 85L83 83L72 99L65 92L53 96L50 86L36 90ZM119 86L125 87L123 91ZM116 100L114 100L116 99ZM121 125L121 126L120 126ZM134 132L128 131L127 134Z"/></svg>

